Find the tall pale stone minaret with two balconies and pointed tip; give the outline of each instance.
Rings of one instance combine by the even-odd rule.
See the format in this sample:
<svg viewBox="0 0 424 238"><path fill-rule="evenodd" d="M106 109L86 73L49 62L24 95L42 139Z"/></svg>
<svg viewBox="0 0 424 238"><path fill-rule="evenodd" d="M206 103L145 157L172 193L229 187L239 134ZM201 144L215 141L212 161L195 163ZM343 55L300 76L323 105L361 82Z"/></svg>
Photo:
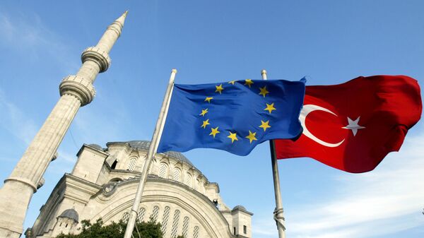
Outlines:
<svg viewBox="0 0 424 238"><path fill-rule="evenodd" d="M127 11L115 20L95 47L81 55L83 66L74 76L59 85L60 99L40 131L20 158L11 176L0 189L0 237L18 238L31 197L42 186L42 178L59 144L80 107L88 105L95 95L93 83L98 73L110 66L109 52L121 35Z"/></svg>

